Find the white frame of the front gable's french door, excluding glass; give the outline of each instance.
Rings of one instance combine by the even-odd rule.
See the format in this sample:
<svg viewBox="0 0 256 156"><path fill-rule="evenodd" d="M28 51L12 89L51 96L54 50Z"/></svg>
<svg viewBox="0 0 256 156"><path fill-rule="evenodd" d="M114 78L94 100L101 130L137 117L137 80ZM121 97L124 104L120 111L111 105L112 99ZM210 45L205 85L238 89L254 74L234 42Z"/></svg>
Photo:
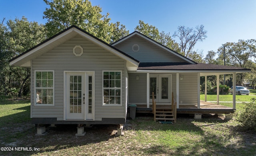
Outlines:
<svg viewBox="0 0 256 156"><path fill-rule="evenodd" d="M69 107L69 104L68 104L68 97L67 95L69 94L68 90L69 90L69 86L67 86L67 81L69 80L68 79L68 75L83 75L83 83L84 85L83 86L83 93L82 93L82 105L84 105L82 107L82 116L80 117L69 117L68 116L68 107ZM95 117L94 117L94 112L95 112L95 78L94 78L94 75L95 75L95 72L94 71L64 71L64 120L94 120ZM92 87L92 105L91 105L91 113L88 112L88 89L89 89L89 76L91 77L92 79L92 82L91 82L91 87ZM84 101L83 101L83 97L84 97ZM84 102L84 104L83 104Z"/></svg>

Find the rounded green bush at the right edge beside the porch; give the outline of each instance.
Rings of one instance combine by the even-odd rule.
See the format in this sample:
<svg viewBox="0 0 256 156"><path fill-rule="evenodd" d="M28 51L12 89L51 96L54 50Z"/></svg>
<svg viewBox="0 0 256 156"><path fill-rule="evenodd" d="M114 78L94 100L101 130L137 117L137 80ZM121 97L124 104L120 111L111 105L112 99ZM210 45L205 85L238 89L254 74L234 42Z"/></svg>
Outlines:
<svg viewBox="0 0 256 156"><path fill-rule="evenodd" d="M244 103L244 109L238 112L237 116L240 126L244 130L256 131L256 99L252 98L252 102Z"/></svg>

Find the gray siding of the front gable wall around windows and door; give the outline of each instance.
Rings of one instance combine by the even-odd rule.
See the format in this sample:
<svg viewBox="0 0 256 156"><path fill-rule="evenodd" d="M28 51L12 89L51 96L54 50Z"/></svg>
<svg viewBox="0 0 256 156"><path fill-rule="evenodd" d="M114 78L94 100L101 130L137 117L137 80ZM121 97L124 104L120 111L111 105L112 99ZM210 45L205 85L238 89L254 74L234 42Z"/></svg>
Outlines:
<svg viewBox="0 0 256 156"><path fill-rule="evenodd" d="M81 45L84 53L80 57L73 54L73 47ZM32 60L32 117L64 117L64 71L95 72L95 120L101 118L125 118L125 77L126 61L80 36L66 41L40 57ZM54 70L54 106L34 105L34 71ZM122 71L122 105L103 106L102 71Z"/></svg>

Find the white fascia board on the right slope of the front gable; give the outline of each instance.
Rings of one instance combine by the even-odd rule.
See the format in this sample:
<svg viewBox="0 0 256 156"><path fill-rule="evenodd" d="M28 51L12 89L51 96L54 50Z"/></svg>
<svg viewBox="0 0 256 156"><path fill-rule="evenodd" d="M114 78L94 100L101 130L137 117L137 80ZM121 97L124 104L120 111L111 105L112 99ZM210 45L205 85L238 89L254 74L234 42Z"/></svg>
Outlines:
<svg viewBox="0 0 256 156"><path fill-rule="evenodd" d="M102 43L101 41L99 41L98 39L96 38L93 38L92 36L88 35L88 34L85 34L84 32L81 32L80 30L78 29L75 29L75 31L80 34L81 36L84 36L84 38L87 38L87 39L90 39L92 42L94 42L95 44L99 45L100 47L114 53L115 55L121 57L122 59L126 60L126 61L129 61L130 63L138 66L139 63L137 61L134 61L133 59L131 59L130 57L127 57L126 55L123 55L122 53L120 53L119 51L113 49L112 47L106 45L105 43Z"/></svg>

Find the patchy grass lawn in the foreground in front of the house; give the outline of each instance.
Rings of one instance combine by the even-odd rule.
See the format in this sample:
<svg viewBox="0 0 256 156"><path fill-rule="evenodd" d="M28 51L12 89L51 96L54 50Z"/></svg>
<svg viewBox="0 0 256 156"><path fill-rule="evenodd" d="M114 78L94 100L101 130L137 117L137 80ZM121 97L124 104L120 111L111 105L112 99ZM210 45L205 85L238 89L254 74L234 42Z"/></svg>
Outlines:
<svg viewBox="0 0 256 156"><path fill-rule="evenodd" d="M235 117L203 115L202 120L194 120L178 115L175 124L159 124L151 114L137 115L124 125L124 136L114 136L116 125L94 125L86 128L85 136L75 136L77 125L57 125L47 127L48 134L36 136L29 105L29 101L0 101L0 147L40 151L0 151L0 155L256 155L255 132L240 132ZM239 105L237 109L244 104Z"/></svg>

